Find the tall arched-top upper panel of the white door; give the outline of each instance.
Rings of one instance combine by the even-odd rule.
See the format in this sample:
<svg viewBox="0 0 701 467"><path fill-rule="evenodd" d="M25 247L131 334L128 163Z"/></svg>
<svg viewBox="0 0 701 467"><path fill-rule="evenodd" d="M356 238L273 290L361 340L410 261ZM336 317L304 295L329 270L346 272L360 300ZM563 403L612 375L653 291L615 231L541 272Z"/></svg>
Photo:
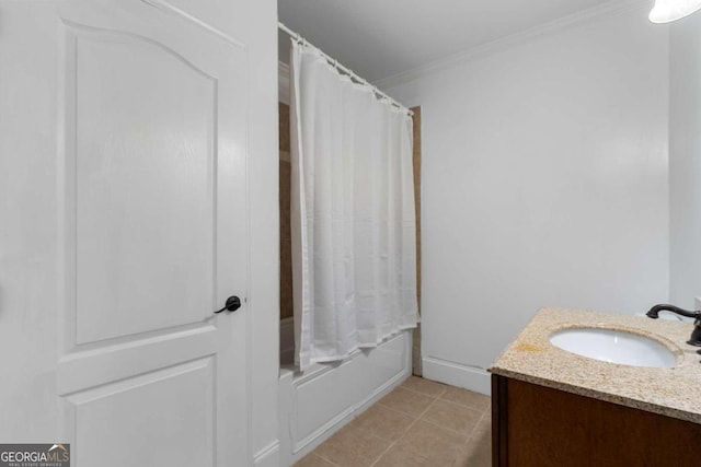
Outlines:
<svg viewBox="0 0 701 467"><path fill-rule="evenodd" d="M216 81L140 37L74 40L76 343L202 322L217 305Z"/></svg>

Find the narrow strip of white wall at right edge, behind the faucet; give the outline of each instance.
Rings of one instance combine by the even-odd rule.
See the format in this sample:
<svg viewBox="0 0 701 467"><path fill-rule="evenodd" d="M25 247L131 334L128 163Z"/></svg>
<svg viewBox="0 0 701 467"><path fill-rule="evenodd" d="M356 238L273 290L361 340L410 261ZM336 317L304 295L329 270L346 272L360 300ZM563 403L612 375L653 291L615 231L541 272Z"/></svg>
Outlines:
<svg viewBox="0 0 701 467"><path fill-rule="evenodd" d="M701 13L673 23L669 60L670 301L692 308L701 296Z"/></svg>

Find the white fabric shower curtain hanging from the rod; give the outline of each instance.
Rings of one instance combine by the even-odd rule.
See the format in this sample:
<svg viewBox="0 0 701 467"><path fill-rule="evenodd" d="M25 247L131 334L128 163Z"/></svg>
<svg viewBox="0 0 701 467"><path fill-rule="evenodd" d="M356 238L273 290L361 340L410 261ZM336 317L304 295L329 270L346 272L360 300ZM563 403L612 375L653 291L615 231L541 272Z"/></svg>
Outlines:
<svg viewBox="0 0 701 467"><path fill-rule="evenodd" d="M292 42L296 364L416 326L412 119Z"/></svg>

